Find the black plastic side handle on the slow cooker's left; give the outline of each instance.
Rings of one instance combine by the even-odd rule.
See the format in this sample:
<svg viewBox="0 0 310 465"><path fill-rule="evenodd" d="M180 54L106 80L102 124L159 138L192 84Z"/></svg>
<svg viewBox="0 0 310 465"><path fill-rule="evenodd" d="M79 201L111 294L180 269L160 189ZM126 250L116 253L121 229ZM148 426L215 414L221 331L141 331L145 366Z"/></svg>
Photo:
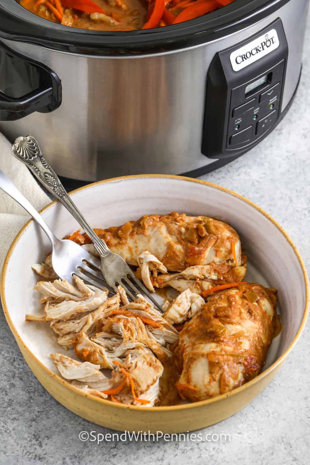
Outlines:
<svg viewBox="0 0 310 465"><path fill-rule="evenodd" d="M1 42L0 89L0 121L20 120L33 112L49 113L61 104L58 76Z"/></svg>

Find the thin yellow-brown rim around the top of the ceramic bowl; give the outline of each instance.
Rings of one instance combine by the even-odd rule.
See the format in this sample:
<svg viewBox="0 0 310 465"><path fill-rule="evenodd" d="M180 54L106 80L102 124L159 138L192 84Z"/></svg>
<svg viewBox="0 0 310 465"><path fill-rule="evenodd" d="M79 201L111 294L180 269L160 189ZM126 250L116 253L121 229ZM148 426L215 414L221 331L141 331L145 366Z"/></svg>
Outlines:
<svg viewBox="0 0 310 465"><path fill-rule="evenodd" d="M233 396L233 395L236 395L238 394L239 392L242 392L244 391L245 389L247 389L248 387L250 387L251 385L253 385L254 383L258 383L261 379L263 379L265 376L267 376L271 371L275 370L275 368L281 364L284 359L286 359L286 357L289 355L290 351L292 350L292 348L294 347L294 345L297 343L297 340L299 339L302 331L303 331L303 328L305 326L305 323L306 323L306 319L307 319L307 316L308 316L308 312L309 312L309 303L310 303L310 287L309 287L309 279L308 279L308 275L307 275L307 272L306 272L306 268L303 264L303 259L301 258L295 244L293 243L293 241L290 239L290 237L288 236L288 234L284 231L284 229L277 223L277 221L275 219L273 219L268 213L266 213L262 208L260 208L259 206L257 206L256 204L254 204L253 202L251 202L251 200L248 200L246 199L245 197L243 197L242 195L240 194L237 194L229 189L226 189L225 187L221 187L221 186L218 186L216 184L212 184L210 182L207 182L207 181L203 181L201 179L192 179L192 178L187 178L185 176L175 176L175 175L169 175L169 174L137 174L137 175L132 175L132 176L119 176L117 178L111 178L111 179L104 179L102 181L97 181L97 182L94 182L92 184L87 184L86 186L82 186L82 187L79 187L79 189L75 189L74 191L70 192L70 194L74 194L74 193L77 193L77 192L80 192L84 189L88 189L92 186L97 186L99 184L105 184L107 182L112 182L112 181L119 181L119 180L126 180L126 179L139 179L139 178L166 178L166 179L181 179L181 180L184 180L184 181L188 181L188 182L194 182L194 183L197 183L197 184L202 184L204 186L209 186L209 187L212 187L214 189L218 189L222 192L226 192L230 195L233 195L234 197L237 197L238 199L241 199L243 200L244 202L246 202L247 204L251 205L253 208L255 208L259 213L262 213L267 219L269 219L277 228L278 230L284 235L285 239L287 240L287 242L290 244L290 246L292 247L295 255L297 256L297 259L300 263L300 266L303 270L303 277L304 277L304 284L305 284L305 290L306 290L306 303L305 303L305 307L304 307L304 312L303 312L303 319L302 319L302 322L301 322L301 325L299 326L298 328L298 331L297 331L297 334L295 336L295 338L293 339L293 341L290 343L290 346L286 349L286 351L284 352L283 355L281 355L281 357L279 357L272 365L270 365L269 368L267 368L267 370L265 370L263 373L259 374L256 378L252 379L251 381L245 383L244 385L240 386L240 387L237 387L236 389L233 389L232 391L230 392L227 392L225 394L221 394L220 396L216 396L216 397L213 397L211 399L207 399L207 400L201 400L199 402L192 402L191 404L185 404L185 405L171 405L171 406L165 406L165 407L152 407L152 410L151 409L148 409L148 412L153 411L153 412L158 412L158 411L171 411L171 410L185 410L185 409L190 409L190 408L196 408L196 407L199 407L199 406L202 406L202 405L207 405L207 404L211 404L213 402L217 402L221 399L225 399L227 397L230 397L230 396ZM42 210L40 210L39 213L43 213L45 212L45 210L47 210L47 208L50 208L52 205L54 205L56 202L58 202L58 200L54 200L53 202L51 202L50 204L46 205L44 208L42 208ZM11 254L13 252L13 249L15 247L15 245L17 244L18 240L20 239L20 236L24 233L24 231L26 230L26 228L33 222L33 219L30 219L25 226L22 227L22 229L20 230L20 232L17 234L17 236L15 237L15 239L13 240L12 242L12 245L10 246L8 252L7 252L7 256L4 260L4 264L3 264L3 269L2 269L2 274L1 274L1 287L0 287L0 293L1 293L1 302L2 302L2 306L3 306L3 311L4 311L4 314L5 314L5 317L7 319L7 323L11 329L11 331L13 332L13 335L16 339L17 342L19 342L20 344L22 344L24 346L24 349L26 352L28 352L28 355L30 357L32 357L39 365L40 367L43 369L43 371L45 371L47 374L49 374L52 378L55 378L59 383L62 383L64 385L67 386L68 389L71 389L75 394L78 394L82 397L85 397L85 398L88 398L91 396L91 398L93 400L96 400L97 402L100 402L101 404L103 405L109 405L109 406L113 406L115 407L116 409L119 409L119 408L125 408L125 409L130 409L130 410L143 410L145 411L145 407L140 407L138 405L123 405L123 404L118 404L118 403L115 403L115 402L112 402L110 400L106 400L106 399L100 399L96 396L93 396L93 395L90 395L90 394L86 394L85 392L82 392L80 391L79 389L73 387L72 385L70 385L65 379L62 379L60 378L56 373L52 372L49 368L47 368L42 362L40 362L40 360L38 360L36 358L36 356L33 354L33 352L31 352L28 347L24 344L23 340L21 339L19 333L17 332L15 326L13 325L13 322L10 318L10 315L9 315L9 312L8 312L8 308L7 308L7 302L6 302L6 298L5 298L5 277L6 277L6 272L7 272L7 265L8 265L8 262L9 262L9 259L11 257Z"/></svg>

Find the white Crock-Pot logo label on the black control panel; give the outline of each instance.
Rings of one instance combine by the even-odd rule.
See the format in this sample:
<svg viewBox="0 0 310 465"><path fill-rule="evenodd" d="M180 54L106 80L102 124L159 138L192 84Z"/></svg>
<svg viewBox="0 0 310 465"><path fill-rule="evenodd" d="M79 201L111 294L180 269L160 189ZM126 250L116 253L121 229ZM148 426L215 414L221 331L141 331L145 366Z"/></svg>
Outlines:
<svg viewBox="0 0 310 465"><path fill-rule="evenodd" d="M279 46L279 38L276 29L271 29L267 34L258 37L249 44L238 48L230 55L231 66L234 71L239 71L245 66L251 65Z"/></svg>

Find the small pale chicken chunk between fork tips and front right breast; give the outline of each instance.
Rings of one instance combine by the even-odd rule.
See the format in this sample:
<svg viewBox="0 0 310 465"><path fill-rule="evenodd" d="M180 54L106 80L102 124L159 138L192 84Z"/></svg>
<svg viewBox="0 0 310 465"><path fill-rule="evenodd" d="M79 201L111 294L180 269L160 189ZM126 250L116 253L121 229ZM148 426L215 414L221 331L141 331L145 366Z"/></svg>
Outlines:
<svg viewBox="0 0 310 465"><path fill-rule="evenodd" d="M171 302L164 314L164 318L171 324L182 323L192 318L204 306L204 299L200 295L186 289Z"/></svg>

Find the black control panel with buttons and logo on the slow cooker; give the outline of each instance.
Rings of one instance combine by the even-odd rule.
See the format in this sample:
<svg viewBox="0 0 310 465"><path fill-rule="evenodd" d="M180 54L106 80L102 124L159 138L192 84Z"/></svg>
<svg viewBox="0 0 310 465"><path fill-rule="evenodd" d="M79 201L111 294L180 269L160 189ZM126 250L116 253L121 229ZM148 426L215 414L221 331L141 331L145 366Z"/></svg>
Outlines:
<svg viewBox="0 0 310 465"><path fill-rule="evenodd" d="M279 19L216 54L207 76L204 155L235 156L272 130L281 114L287 55Z"/></svg>

